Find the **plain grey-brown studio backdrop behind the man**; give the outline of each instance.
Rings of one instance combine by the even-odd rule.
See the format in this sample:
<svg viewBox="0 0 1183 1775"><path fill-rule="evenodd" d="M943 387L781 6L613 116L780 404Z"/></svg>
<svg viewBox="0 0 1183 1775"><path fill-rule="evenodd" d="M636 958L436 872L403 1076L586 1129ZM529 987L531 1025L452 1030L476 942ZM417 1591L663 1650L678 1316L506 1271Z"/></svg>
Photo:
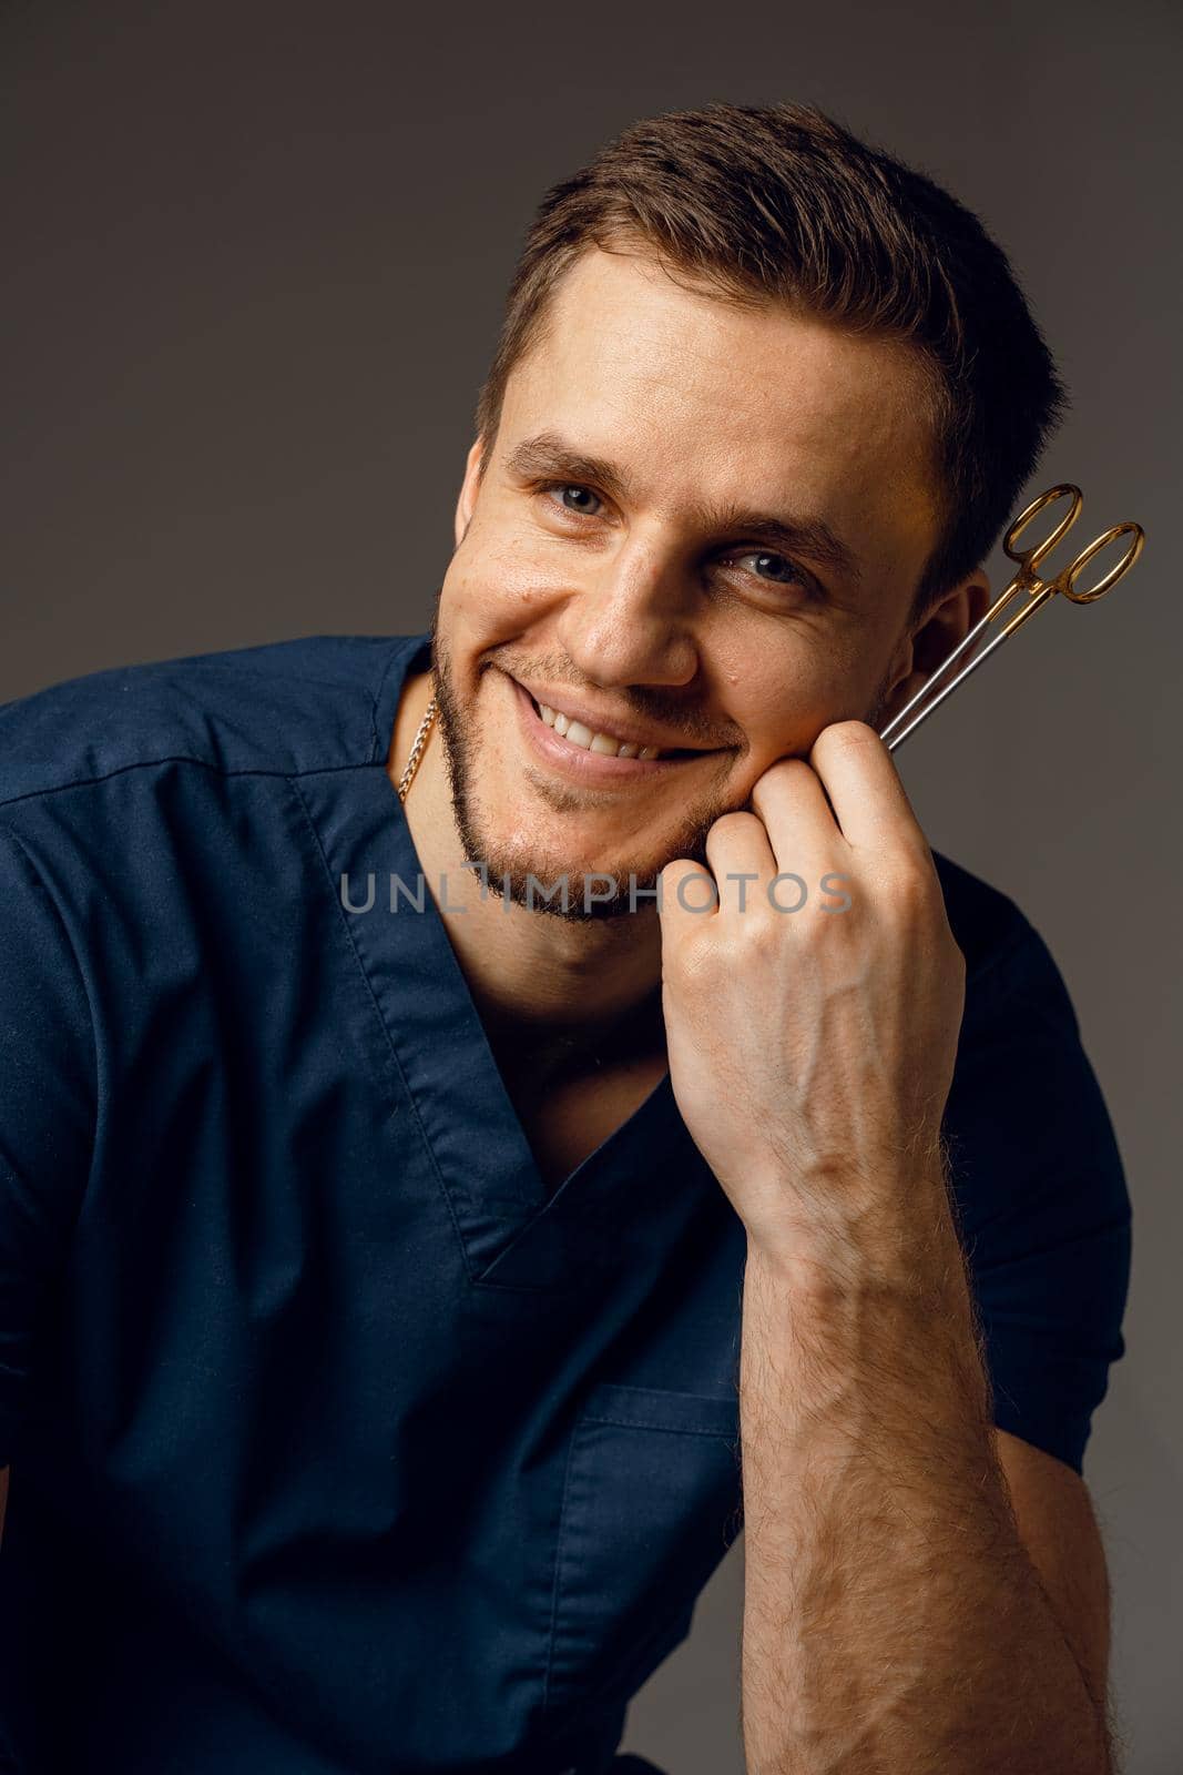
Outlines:
<svg viewBox="0 0 1183 1775"><path fill-rule="evenodd" d="M1030 493L1139 518L908 742L929 840L1064 969L1135 1203L1085 1456L1130 1775L1176 1775L1178 20L1167 4L18 4L0 12L0 699L129 660L427 625L530 209L631 119L809 99L977 209L1075 408ZM999 579L997 584L1002 584ZM626 1745L729 1775L741 1542Z"/></svg>

